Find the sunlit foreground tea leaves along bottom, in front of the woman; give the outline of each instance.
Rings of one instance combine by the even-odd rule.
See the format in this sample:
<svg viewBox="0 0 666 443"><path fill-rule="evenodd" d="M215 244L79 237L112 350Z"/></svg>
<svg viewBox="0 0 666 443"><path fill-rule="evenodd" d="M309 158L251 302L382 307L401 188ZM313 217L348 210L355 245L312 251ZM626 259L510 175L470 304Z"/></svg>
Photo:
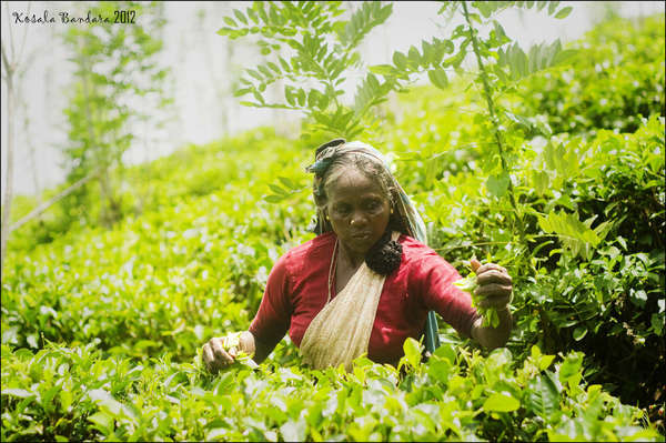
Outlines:
<svg viewBox="0 0 666 443"><path fill-rule="evenodd" d="M658 441L638 409L581 382L576 353L553 364L534 346L513 369L506 350L445 343L421 364L407 341L402 375L360 358L350 373L270 364L213 377L199 356L139 362L95 344L2 345L3 441Z"/></svg>

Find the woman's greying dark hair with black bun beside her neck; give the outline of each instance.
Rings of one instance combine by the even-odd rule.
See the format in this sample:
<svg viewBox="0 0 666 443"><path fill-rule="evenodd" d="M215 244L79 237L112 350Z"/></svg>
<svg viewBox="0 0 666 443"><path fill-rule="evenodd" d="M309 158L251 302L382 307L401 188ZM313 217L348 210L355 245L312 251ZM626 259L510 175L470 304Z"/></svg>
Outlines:
<svg viewBox="0 0 666 443"><path fill-rule="evenodd" d="M317 150L317 152L321 151ZM402 260L402 245L391 240L393 231L406 234L407 230L401 221L396 205L400 198L397 190L393 185L391 172L384 168L380 161L357 152L343 153L331 161L330 165L322 171L320 177L315 177L313 185L314 203L317 207L316 233L330 232L333 230L331 222L325 220L325 207L329 203L326 188L342 175L350 168L356 169L363 175L375 182L384 198L389 200L392 214L389 219L386 231L377 242L365 254L365 264L379 274L387 275L400 266Z"/></svg>

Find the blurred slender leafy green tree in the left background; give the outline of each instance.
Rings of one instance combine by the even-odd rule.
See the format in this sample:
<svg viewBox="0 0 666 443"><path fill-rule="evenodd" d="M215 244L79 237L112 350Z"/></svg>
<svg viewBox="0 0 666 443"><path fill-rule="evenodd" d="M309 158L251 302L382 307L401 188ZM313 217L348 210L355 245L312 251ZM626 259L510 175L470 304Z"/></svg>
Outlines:
<svg viewBox="0 0 666 443"><path fill-rule="evenodd" d="M164 23L158 3L99 2L90 8L93 16L114 16L114 11L134 11L132 24L104 23L68 27L62 38L72 53L74 80L70 104L64 110L69 140L63 147L68 184L90 174L97 180L74 191L65 201L64 221L85 219L109 225L122 218L125 208L119 198L122 157L135 140L138 123L152 127L155 110L169 103L164 93L168 70L157 57L162 49L159 32ZM131 100L141 99L141 105ZM101 204L92 204L91 188L100 187ZM94 208L99 212L90 211Z"/></svg>

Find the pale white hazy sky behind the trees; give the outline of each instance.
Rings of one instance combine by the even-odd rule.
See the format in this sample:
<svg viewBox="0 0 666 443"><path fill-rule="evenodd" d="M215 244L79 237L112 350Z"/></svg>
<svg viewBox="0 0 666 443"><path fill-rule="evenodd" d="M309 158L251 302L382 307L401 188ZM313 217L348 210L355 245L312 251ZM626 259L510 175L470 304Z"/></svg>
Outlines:
<svg viewBox="0 0 666 443"><path fill-rule="evenodd" d="M21 85L19 109L14 111L14 193L36 194L57 185L64 179L60 151L67 145L67 120L63 109L69 100L69 84L73 64L59 33L62 23L16 23L13 12L36 13L44 11L53 17L62 11L75 11L72 2L33 1L1 2L2 44L10 53L21 52L26 71L18 82ZM350 2L357 8L357 2ZM232 70L252 67L259 61L259 52L250 42L234 47L234 56L228 66L226 41L216 34L223 26L223 17L233 8L245 8L248 2L165 2L167 24L163 29L164 50L161 62L171 67L174 97L171 120L164 130L144 133L137 131L137 145L127 153L129 163L151 160L168 154L188 143L205 143L224 135L224 114L229 131L235 133L261 124L271 124L284 131L294 130L295 115L290 111L264 110L239 105L240 99L223 97L229 90ZM507 34L518 41L523 49L533 43L551 42L556 38L571 41L581 38L614 8L620 16L664 13L662 1L625 2L561 2L573 6L572 14L556 20L535 11L505 11L498 18ZM422 39L445 38L457 24L444 23L437 16L438 2L397 1L394 11L383 26L374 29L361 46L362 58L367 64L386 63L394 50L406 51L411 44L420 47ZM84 24L81 24L84 26ZM11 42L16 52L11 52ZM9 56L9 54L8 54ZM4 61L2 61L4 64ZM4 74L4 68L2 69ZM359 73L359 77L361 73ZM353 82L353 79L351 80ZM350 89L353 89L352 87ZM7 164L7 85L1 89L1 161L2 181L0 192L4 195Z"/></svg>

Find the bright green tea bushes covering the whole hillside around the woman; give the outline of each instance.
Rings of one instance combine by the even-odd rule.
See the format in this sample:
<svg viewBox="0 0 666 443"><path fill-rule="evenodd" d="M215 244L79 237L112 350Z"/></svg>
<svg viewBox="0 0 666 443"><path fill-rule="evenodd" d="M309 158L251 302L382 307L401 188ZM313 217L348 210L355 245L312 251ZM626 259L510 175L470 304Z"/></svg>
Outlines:
<svg viewBox="0 0 666 443"><path fill-rule="evenodd" d="M258 369L202 371L203 342L248 328L272 263L314 235L303 171L313 147L258 129L128 168L124 218L111 229L63 226L56 207L12 235L2 441L663 441L663 57L640 64L645 81L662 75L643 118L625 119L626 101L604 118L566 104L586 115L572 128L558 104L535 99L598 93L588 75L608 50L601 36L640 42L608 43L626 63L663 53L649 38L663 19L646 23L602 24L579 43L592 51L579 67L506 97L551 128L506 128L522 230L478 172L486 123L465 78L398 95L364 137L392 159L440 254L461 272L476 254L514 276L505 349L481 351L441 324L425 363L407 341L400 368L361 358L350 373L311 371L285 338ZM551 83L558 75L582 90ZM609 115L625 123L608 128Z"/></svg>

